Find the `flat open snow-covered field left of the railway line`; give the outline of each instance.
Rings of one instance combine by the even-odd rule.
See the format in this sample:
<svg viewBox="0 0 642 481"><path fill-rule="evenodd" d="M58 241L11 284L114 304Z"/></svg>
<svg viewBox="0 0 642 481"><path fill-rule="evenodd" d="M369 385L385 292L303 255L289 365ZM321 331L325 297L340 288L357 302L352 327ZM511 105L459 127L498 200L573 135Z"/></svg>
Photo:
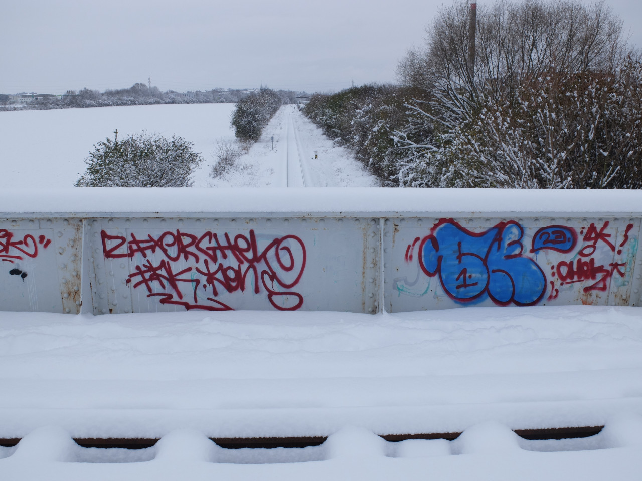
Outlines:
<svg viewBox="0 0 642 481"><path fill-rule="evenodd" d="M0 112L0 188L73 187L96 142L157 133L193 142L206 164L216 137L234 135L234 104L140 105Z"/></svg>

